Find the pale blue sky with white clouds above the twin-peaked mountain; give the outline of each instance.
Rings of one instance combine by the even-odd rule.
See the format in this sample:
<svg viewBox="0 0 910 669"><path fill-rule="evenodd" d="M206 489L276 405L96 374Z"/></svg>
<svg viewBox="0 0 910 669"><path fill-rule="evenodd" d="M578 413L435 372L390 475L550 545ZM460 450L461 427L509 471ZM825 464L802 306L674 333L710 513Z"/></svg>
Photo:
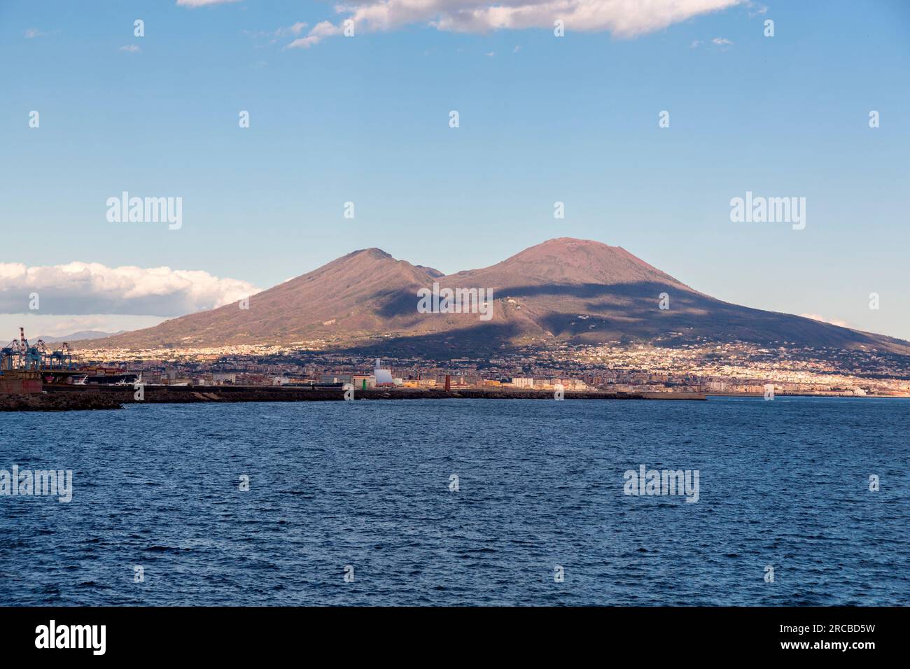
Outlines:
<svg viewBox="0 0 910 669"><path fill-rule="evenodd" d="M358 248L451 273L575 237L910 340L902 0L4 0L0 84L8 339L144 327ZM179 227L109 220L124 191L181 198ZM805 198L804 228L733 221L747 192Z"/></svg>

